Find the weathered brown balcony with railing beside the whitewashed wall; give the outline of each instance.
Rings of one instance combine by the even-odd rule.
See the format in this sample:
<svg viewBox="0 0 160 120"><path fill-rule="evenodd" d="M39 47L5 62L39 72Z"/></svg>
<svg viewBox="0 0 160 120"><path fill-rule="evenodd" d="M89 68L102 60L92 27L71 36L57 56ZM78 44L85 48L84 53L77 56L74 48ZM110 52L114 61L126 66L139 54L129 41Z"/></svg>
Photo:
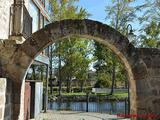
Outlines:
<svg viewBox="0 0 160 120"><path fill-rule="evenodd" d="M32 17L27 8L24 4L13 4L10 17L10 37L23 42L24 38L27 39L31 34Z"/></svg>

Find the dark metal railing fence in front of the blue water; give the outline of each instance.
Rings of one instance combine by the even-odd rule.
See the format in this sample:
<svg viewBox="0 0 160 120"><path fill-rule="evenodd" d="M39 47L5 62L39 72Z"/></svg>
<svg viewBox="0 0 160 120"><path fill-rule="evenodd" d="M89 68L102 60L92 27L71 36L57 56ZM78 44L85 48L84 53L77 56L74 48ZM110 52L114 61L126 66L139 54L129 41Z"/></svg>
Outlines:
<svg viewBox="0 0 160 120"><path fill-rule="evenodd" d="M123 101L89 101L89 95L86 95L86 101L74 102L67 100L58 100L57 102L49 102L48 108L52 110L70 110L84 112L98 112L107 114L128 113L128 99Z"/></svg>

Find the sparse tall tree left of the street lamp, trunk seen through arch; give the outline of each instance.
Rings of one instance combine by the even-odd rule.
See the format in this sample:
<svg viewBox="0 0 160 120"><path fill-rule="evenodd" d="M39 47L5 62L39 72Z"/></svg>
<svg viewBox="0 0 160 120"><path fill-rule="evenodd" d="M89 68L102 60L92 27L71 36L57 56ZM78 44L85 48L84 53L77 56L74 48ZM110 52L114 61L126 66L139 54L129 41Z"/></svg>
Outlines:
<svg viewBox="0 0 160 120"><path fill-rule="evenodd" d="M136 18L136 11L139 7L135 8L130 6L130 3L135 0L112 0L111 6L106 6L106 20L110 21L110 25L115 28L117 31L126 35L126 26L128 22L132 22ZM112 56L112 89L111 93L113 94L115 79L116 79L116 70L117 64L119 64L119 59L116 58L114 54ZM118 60L118 61L117 61ZM123 68L124 69L124 68Z"/></svg>

